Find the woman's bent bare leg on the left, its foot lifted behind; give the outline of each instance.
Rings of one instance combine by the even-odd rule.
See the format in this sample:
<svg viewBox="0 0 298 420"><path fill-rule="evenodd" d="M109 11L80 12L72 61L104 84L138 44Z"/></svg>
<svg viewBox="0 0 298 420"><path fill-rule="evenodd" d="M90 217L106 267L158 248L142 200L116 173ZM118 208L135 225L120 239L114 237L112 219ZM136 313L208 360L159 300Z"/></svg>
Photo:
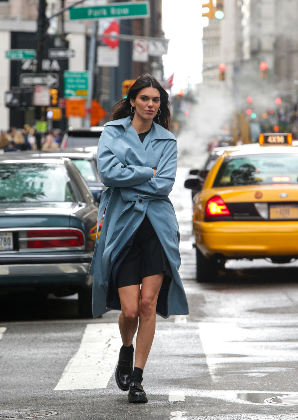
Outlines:
<svg viewBox="0 0 298 420"><path fill-rule="evenodd" d="M140 285L119 287L118 289L121 314L119 316L119 330L124 346L130 346L137 331L139 317Z"/></svg>

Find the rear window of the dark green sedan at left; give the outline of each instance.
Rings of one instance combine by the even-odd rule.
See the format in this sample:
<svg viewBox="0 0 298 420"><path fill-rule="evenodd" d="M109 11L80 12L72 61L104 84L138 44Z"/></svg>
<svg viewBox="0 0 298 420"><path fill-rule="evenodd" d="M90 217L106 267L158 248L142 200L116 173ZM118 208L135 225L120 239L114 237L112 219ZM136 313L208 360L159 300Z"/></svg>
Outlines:
<svg viewBox="0 0 298 420"><path fill-rule="evenodd" d="M0 164L0 203L76 201L63 165Z"/></svg>

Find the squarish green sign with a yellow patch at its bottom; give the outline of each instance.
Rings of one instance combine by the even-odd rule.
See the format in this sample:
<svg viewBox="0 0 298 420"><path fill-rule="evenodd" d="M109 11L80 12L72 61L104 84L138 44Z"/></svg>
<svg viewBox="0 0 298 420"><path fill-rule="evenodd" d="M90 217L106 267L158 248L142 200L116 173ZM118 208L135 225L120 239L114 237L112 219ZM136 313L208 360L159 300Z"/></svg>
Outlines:
<svg viewBox="0 0 298 420"><path fill-rule="evenodd" d="M64 97L65 98L87 98L88 97L88 71L69 71L64 74Z"/></svg>

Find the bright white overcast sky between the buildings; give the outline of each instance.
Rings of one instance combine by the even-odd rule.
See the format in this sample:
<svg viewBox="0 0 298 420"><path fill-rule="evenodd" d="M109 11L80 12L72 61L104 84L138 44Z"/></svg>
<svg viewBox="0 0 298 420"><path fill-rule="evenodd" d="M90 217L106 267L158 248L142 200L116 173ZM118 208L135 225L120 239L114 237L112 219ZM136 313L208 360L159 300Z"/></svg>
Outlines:
<svg viewBox="0 0 298 420"><path fill-rule="evenodd" d="M202 0L163 0L163 31L170 39L163 56L165 78L175 74L175 92L202 81Z"/></svg>

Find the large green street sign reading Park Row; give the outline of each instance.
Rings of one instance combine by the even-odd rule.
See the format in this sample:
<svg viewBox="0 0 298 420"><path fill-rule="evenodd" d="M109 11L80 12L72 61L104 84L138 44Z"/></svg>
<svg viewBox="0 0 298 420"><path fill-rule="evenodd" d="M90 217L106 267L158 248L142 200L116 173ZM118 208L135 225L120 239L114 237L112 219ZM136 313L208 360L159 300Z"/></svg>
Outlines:
<svg viewBox="0 0 298 420"><path fill-rule="evenodd" d="M135 19L149 18L149 2L110 3L105 6L78 7L70 9L70 20L75 19Z"/></svg>

